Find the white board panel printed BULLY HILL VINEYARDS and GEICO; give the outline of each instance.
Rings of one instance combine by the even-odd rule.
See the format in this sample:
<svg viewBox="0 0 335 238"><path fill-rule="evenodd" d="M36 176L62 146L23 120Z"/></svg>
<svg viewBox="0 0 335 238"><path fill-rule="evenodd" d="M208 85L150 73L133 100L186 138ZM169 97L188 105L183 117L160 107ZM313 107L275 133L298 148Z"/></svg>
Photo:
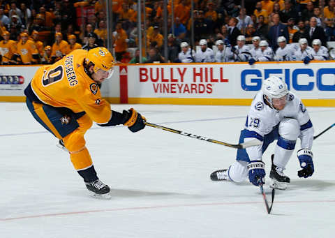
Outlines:
<svg viewBox="0 0 335 238"><path fill-rule="evenodd" d="M281 77L303 98L334 98L334 62L128 66L129 97L253 98L262 80Z"/></svg>

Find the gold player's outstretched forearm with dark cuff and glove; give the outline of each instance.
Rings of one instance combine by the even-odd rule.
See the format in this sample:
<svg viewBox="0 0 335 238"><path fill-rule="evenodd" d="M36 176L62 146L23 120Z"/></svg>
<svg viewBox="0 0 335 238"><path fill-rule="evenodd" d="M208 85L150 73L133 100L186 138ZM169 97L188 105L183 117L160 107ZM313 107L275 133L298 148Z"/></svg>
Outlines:
<svg viewBox="0 0 335 238"><path fill-rule="evenodd" d="M128 126L129 130L133 133L140 131L144 128L144 122L147 121L135 109L124 110L122 113L112 110L112 117L106 124L98 124L99 126L117 126L123 124Z"/></svg>

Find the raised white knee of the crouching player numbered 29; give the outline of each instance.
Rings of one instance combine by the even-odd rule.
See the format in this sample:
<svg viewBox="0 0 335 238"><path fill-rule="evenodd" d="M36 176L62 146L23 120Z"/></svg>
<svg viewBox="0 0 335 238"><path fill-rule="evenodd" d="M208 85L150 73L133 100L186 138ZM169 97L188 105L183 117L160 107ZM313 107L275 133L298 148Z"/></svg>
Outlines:
<svg viewBox="0 0 335 238"><path fill-rule="evenodd" d="M279 124L279 135L285 140L297 140L300 135L300 125L296 119L285 118Z"/></svg>

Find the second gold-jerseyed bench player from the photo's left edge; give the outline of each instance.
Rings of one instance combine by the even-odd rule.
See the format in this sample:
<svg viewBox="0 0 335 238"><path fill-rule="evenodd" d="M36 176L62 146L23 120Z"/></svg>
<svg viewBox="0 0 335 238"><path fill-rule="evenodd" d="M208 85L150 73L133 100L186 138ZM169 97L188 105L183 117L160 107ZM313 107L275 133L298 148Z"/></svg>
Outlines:
<svg viewBox="0 0 335 238"><path fill-rule="evenodd" d="M20 55L22 64L33 64L38 61L38 50L32 40L28 39L28 34L22 32L21 39L17 43L17 53Z"/></svg>

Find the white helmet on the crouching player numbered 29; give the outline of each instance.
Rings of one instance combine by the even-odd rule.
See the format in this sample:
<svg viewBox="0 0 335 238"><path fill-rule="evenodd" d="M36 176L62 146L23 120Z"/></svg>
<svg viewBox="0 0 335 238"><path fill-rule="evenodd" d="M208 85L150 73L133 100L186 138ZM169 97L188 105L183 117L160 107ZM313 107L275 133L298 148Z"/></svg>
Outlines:
<svg viewBox="0 0 335 238"><path fill-rule="evenodd" d="M272 99L288 96L288 85L279 77L271 76L263 81L262 92L267 101L272 105Z"/></svg>

